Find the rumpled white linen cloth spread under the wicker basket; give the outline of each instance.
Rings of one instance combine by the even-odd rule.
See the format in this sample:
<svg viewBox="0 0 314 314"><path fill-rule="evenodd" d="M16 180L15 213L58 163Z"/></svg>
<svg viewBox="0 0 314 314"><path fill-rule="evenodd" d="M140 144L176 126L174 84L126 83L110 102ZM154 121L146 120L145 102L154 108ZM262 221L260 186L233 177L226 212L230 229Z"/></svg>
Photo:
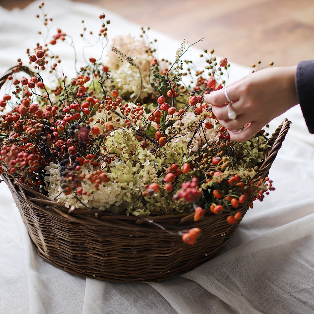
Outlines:
<svg viewBox="0 0 314 314"><path fill-rule="evenodd" d="M35 18L39 4L13 11L0 7L0 73L24 56L26 48L35 47L41 28ZM82 19L88 29L97 30L103 12L111 20L111 38L140 33L139 25L89 4L46 1L45 11L54 18L55 28L71 35L79 34ZM173 59L180 43L158 32L150 34L158 38L160 56ZM76 45L78 39L74 38ZM80 48L78 44L77 51ZM67 73L73 55L61 52ZM199 53L192 48L186 58L196 59ZM230 71L230 81L248 74L238 65ZM1 183L0 312L313 313L314 135L308 133L299 106L274 119L272 131L284 117L292 120L291 129L269 173L276 191L262 203L255 202L219 256L159 284L85 279L47 263L37 256L13 198Z"/></svg>

